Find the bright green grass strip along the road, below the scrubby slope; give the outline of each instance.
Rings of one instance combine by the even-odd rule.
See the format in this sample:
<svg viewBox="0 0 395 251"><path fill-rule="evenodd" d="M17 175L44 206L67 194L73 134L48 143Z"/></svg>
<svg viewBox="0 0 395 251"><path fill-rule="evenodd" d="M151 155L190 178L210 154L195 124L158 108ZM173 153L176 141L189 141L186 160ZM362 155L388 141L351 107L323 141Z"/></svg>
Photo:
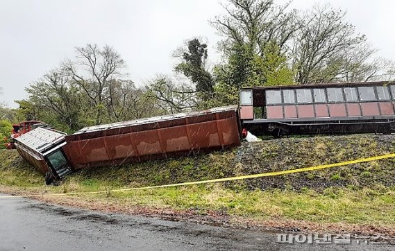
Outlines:
<svg viewBox="0 0 395 251"><path fill-rule="evenodd" d="M67 191L99 191L108 187L68 182ZM156 209L223 211L255 220L309 220L317 223L356 223L395 226L395 188L330 188L289 191L235 191L220 184L191 187L110 192L77 197L105 202L120 208L133 206Z"/></svg>

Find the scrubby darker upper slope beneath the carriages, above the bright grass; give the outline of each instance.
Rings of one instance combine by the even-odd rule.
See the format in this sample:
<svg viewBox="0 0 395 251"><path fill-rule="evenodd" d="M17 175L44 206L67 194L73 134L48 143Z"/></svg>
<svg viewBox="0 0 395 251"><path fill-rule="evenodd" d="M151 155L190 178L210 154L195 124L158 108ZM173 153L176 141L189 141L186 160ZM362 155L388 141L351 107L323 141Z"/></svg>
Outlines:
<svg viewBox="0 0 395 251"><path fill-rule="evenodd" d="M136 187L224 178L330 164L395 153L395 135L347 135L273 139L208 155L165 159L112 168L77 171L67 180L106 182L111 187ZM40 174L14 150L0 151L1 184L40 184ZM17 177L12 176L17 172ZM325 189L326 187L395 186L395 159L276 177L226 182L232 189Z"/></svg>

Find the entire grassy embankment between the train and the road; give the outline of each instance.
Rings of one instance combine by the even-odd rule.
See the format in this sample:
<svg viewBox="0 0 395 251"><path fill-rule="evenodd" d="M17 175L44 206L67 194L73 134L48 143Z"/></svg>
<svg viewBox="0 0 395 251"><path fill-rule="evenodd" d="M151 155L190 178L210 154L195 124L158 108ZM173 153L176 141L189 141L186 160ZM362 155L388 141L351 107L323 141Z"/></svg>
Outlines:
<svg viewBox="0 0 395 251"><path fill-rule="evenodd" d="M0 150L0 190L15 193L100 191L224 178L395 153L395 135L276 139L226 152L78 171L59 187L16 151ZM63 198L63 197L62 197ZM70 200L72 198L72 200ZM90 209L218 211L253 220L308 220L395 228L395 159L221 184L67 196ZM58 201L62 200L58 198Z"/></svg>

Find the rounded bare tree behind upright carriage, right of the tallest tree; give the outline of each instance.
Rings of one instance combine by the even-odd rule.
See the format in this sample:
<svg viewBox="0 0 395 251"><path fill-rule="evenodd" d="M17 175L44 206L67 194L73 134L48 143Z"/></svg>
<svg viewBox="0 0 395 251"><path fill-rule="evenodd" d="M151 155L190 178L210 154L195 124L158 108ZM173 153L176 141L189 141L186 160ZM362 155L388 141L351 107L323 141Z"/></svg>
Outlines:
<svg viewBox="0 0 395 251"><path fill-rule="evenodd" d="M331 82L342 79L351 69L346 60L347 54L361 48L366 39L355 32L353 25L344 21L345 14L329 5L316 5L299 17L301 28L294 37L291 54L296 82ZM365 52L364 57L372 53L369 48Z"/></svg>

